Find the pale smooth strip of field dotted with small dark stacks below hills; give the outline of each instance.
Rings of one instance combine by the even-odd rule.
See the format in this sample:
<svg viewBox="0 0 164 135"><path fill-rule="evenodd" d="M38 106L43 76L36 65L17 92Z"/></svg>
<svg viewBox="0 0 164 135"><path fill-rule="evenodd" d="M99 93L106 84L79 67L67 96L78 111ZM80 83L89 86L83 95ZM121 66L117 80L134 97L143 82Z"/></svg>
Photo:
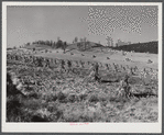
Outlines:
<svg viewBox="0 0 164 135"><path fill-rule="evenodd" d="M157 69L157 55L146 54L146 53L128 53L125 56L121 52L113 53L105 49L103 52L98 52L100 48L96 48L92 52L78 52L73 49L66 54L63 50L52 50L52 53L39 53L36 56L58 58L58 59L72 59L72 60L84 60L84 61L99 61L102 64L119 64L129 65L131 67L138 66L139 68L153 68ZM58 53L57 53L58 52ZM98 52L98 53L97 53ZM81 55L83 54L83 55ZM96 56L95 58L92 56ZM109 57L109 59L107 59ZM129 58L130 61L127 61ZM147 60L151 59L153 63L149 64Z"/></svg>

